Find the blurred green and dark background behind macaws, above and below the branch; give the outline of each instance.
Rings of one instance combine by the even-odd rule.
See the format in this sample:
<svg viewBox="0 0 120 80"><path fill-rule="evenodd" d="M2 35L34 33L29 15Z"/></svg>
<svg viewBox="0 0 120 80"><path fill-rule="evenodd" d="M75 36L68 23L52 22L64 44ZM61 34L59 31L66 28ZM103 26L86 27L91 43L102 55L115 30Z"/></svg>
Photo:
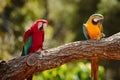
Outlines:
<svg viewBox="0 0 120 80"><path fill-rule="evenodd" d="M45 48L85 40L82 24L94 13L105 17L106 37L120 31L120 0L0 0L0 60L19 57L23 34L47 19ZM114 53L113 53L114 54ZM120 80L120 61L101 60L99 80ZM77 61L35 74L34 80L90 80L89 61Z"/></svg>

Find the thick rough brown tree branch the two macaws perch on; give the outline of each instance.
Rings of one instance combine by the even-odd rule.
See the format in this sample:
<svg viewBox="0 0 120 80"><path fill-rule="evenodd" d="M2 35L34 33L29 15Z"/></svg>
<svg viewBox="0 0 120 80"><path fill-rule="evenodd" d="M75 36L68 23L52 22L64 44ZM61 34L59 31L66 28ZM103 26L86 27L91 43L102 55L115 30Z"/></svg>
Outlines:
<svg viewBox="0 0 120 80"><path fill-rule="evenodd" d="M120 33L102 40L76 41L0 63L1 80L23 80L36 72L58 67L75 60L120 60Z"/></svg>

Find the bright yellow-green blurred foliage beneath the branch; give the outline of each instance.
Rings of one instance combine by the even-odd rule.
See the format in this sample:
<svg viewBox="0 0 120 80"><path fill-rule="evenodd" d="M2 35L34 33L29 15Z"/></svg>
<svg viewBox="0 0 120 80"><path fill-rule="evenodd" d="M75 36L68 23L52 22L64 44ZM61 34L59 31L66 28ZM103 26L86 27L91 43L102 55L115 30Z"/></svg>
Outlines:
<svg viewBox="0 0 120 80"><path fill-rule="evenodd" d="M41 74L36 74L33 80L90 80L90 63L78 62L74 64L64 64L61 67L47 70ZM99 80L103 80L104 68L99 66Z"/></svg>

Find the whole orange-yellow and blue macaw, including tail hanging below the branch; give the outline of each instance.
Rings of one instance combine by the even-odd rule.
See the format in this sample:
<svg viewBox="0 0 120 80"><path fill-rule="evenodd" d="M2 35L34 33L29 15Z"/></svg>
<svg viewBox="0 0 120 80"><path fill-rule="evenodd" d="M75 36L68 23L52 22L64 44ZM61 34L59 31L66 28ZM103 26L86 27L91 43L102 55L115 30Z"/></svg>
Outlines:
<svg viewBox="0 0 120 80"><path fill-rule="evenodd" d="M87 40L100 40L105 37L103 33L103 15L93 14L90 16L88 21L83 24L83 33ZM92 80L98 80L98 58L92 58L91 63L91 78Z"/></svg>

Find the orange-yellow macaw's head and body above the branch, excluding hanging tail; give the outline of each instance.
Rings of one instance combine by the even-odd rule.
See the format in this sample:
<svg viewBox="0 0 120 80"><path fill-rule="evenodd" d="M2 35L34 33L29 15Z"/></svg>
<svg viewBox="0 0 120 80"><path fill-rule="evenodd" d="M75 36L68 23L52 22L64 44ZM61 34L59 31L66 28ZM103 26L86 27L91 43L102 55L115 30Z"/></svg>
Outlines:
<svg viewBox="0 0 120 80"><path fill-rule="evenodd" d="M88 21L85 24L83 24L83 33L87 40L99 40L105 36L102 27L103 19L103 15L93 14L90 16Z"/></svg>

